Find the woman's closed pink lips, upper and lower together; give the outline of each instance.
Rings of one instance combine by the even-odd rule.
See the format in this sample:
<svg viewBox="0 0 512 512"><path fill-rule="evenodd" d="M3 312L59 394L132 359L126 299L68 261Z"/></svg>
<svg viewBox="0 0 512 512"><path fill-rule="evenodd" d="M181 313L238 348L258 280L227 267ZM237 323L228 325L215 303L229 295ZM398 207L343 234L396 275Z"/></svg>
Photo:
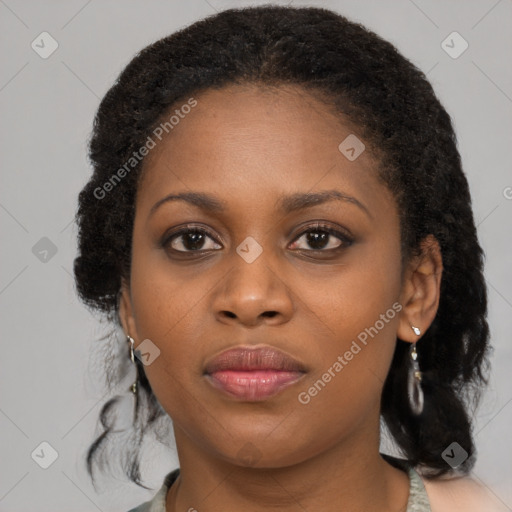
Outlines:
<svg viewBox="0 0 512 512"><path fill-rule="evenodd" d="M205 374L213 387L231 397L261 401L297 382L305 369L272 347L237 347L210 361Z"/></svg>

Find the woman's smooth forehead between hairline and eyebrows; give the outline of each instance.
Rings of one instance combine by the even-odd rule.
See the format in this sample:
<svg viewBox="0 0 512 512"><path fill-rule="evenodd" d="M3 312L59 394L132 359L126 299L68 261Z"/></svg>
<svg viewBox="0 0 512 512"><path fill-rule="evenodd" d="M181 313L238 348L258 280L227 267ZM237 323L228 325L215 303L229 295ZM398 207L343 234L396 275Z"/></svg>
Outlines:
<svg viewBox="0 0 512 512"><path fill-rule="evenodd" d="M230 85L193 99L192 109L180 109L189 98L171 109L176 124L146 157L138 207L187 190L246 208L298 191L382 193L370 151L350 160L339 149L357 127L298 86Z"/></svg>

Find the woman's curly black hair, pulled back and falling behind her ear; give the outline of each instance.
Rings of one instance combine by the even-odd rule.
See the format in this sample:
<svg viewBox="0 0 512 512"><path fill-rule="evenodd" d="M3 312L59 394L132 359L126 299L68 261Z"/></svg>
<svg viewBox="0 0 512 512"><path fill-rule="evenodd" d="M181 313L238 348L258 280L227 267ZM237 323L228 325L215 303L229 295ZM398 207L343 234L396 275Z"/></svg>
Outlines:
<svg viewBox="0 0 512 512"><path fill-rule="evenodd" d="M378 157L378 177L396 200L402 264L418 254L428 235L439 242L440 303L418 348L423 413L415 416L408 405L410 344L397 339L381 415L398 449L422 466L425 477L452 471L442 452L453 441L469 454L457 468L467 474L476 453L471 414L488 384L491 347L484 253L456 136L425 74L391 43L335 12L275 5L229 9L156 41L131 60L101 101L89 141L94 172L80 193L76 219L80 298L120 326L121 279L129 282L134 205L145 160L125 166L122 180L113 175L176 105L230 84L300 86L343 114ZM131 448L166 414L138 359L136 365L137 434ZM104 432L87 454L91 476L97 450L116 432L111 416L118 399L101 411ZM138 452L130 451L124 470L145 487L139 462Z"/></svg>

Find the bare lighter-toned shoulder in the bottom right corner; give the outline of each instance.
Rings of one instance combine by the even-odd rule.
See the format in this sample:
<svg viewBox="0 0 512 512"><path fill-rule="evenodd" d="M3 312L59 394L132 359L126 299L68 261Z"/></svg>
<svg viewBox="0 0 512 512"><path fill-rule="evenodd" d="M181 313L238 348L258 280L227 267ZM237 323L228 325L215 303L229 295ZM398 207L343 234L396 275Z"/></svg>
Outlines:
<svg viewBox="0 0 512 512"><path fill-rule="evenodd" d="M492 490L470 476L422 480L432 512L511 512Z"/></svg>

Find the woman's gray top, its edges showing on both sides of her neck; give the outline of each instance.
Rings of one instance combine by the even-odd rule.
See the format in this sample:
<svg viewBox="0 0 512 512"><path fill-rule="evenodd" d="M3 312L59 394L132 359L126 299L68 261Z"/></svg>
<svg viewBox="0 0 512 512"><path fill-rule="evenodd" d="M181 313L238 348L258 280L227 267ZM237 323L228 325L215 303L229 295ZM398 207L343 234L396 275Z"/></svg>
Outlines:
<svg viewBox="0 0 512 512"><path fill-rule="evenodd" d="M399 461L399 459L396 459L396 461L409 473L409 499L407 501L406 512L432 512L428 501L427 491L425 490L425 486L423 485L420 475L412 466L407 465L406 461ZM165 512L167 491L176 478L178 478L179 471L179 468L175 469L165 476L162 487L152 500L146 501L138 507L132 508L128 512Z"/></svg>

